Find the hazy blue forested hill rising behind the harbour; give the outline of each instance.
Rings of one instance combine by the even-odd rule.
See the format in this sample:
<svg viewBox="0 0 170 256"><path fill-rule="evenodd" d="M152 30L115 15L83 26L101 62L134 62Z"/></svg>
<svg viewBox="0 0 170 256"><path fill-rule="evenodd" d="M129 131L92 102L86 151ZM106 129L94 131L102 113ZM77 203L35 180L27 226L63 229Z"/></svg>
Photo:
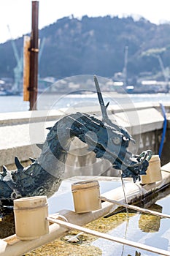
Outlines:
<svg viewBox="0 0 170 256"><path fill-rule="evenodd" d="M164 67L170 64L170 25L157 26L144 18L66 17L41 29L39 37L45 38L39 63L42 78L80 74L112 77L123 70L126 45L129 76L158 72L155 53L163 59ZM21 52L23 38L15 43ZM16 60L10 41L0 44L0 56L0 78L12 77Z"/></svg>

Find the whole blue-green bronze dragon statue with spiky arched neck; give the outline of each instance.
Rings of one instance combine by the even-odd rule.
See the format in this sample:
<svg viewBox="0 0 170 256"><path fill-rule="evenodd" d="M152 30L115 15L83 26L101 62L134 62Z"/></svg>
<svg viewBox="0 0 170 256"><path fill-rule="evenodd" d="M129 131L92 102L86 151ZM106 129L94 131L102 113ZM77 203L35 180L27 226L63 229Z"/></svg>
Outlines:
<svg viewBox="0 0 170 256"><path fill-rule="evenodd" d="M96 76L94 81L102 119L87 113L73 113L63 116L53 127L48 128L50 132L42 145L42 153L38 159L31 159L31 165L23 167L18 157L15 157L16 170L9 171L3 166L0 173L1 202L12 202L18 197L53 195L61 184L70 142L74 137L87 143L88 150L93 151L96 158L108 159L113 167L122 170L123 178L131 177L135 182L140 175L146 174L152 152L148 150L134 155L127 150L134 139L125 128L109 119L109 103L104 105Z"/></svg>

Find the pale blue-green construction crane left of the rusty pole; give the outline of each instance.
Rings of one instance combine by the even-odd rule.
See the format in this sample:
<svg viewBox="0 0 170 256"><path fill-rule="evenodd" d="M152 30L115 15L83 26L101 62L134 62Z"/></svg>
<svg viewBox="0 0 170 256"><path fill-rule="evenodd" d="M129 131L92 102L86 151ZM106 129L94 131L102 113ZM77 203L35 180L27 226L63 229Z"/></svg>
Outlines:
<svg viewBox="0 0 170 256"><path fill-rule="evenodd" d="M18 49L15 45L15 41L12 39L11 31L9 29L9 25L7 25L7 28L8 28L9 34L10 34L11 44L12 44L12 49L13 49L13 52L14 52L15 60L17 62L16 67L13 69L14 70L15 83L12 86L12 93L13 94L20 94L20 92L22 91L21 80L22 80L22 77L23 77L23 54L20 53L20 56L19 56Z"/></svg>

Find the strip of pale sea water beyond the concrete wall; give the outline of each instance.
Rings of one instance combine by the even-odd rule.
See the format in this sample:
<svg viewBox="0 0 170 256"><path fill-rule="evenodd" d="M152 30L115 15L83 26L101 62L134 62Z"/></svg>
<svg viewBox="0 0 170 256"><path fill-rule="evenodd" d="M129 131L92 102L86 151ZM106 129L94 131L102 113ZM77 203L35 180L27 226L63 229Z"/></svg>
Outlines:
<svg viewBox="0 0 170 256"><path fill-rule="evenodd" d="M169 102L170 94L103 94L104 102L111 105L123 105L136 102ZM37 97L37 109L60 109L74 106L98 105L97 94L40 94ZM29 110L29 102L23 96L0 96L0 113Z"/></svg>

